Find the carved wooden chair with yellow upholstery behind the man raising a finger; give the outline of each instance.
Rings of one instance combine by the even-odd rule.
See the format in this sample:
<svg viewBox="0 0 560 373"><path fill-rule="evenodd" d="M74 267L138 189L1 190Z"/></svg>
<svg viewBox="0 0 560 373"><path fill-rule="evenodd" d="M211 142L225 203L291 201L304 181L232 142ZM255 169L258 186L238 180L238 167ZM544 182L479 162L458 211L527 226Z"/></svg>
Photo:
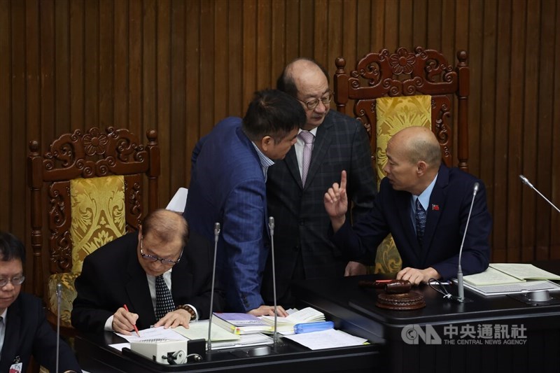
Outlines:
<svg viewBox="0 0 560 373"><path fill-rule="evenodd" d="M353 101L353 115L363 123L370 136L372 162L377 171L377 186L383 178L386 145L404 127L430 127L440 142L442 160L447 166L468 171L468 94L467 52L457 52L456 66L437 50L398 48L369 53L346 73L346 60L336 59L335 102L346 113ZM456 107L455 122L451 109ZM456 137L454 138L454 132ZM457 162L452 151L456 141ZM379 246L374 272L395 273L402 265L393 239Z"/></svg>

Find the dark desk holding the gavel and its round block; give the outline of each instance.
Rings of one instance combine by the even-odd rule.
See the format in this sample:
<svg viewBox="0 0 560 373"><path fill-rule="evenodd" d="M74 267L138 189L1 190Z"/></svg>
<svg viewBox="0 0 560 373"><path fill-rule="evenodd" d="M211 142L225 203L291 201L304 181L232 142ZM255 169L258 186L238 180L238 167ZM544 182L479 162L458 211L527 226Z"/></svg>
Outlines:
<svg viewBox="0 0 560 373"><path fill-rule="evenodd" d="M539 267L560 273L560 262ZM484 297L465 289L471 302L457 303L429 286L419 286L414 290L424 296L425 308L393 311L375 306L379 290L358 286L359 280L375 278L306 281L295 286L295 295L302 306L323 311L337 328L380 344L381 361L391 372L559 372L558 302L535 307L507 295ZM456 293L456 287L451 288ZM492 334L487 338L491 342L486 342L477 332L482 330L484 335L488 328L498 333L521 328L525 338ZM449 334L452 330L459 335ZM473 331L475 337L461 337L461 330ZM420 336L421 332L428 335ZM431 332L440 337L439 343L430 338Z"/></svg>

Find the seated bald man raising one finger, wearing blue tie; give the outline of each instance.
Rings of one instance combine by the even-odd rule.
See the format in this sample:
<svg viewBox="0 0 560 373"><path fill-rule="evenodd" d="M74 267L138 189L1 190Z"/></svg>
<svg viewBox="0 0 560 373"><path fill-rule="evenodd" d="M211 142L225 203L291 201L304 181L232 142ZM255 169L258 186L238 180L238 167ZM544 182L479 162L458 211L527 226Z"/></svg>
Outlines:
<svg viewBox="0 0 560 373"><path fill-rule="evenodd" d="M482 181L441 164L440 146L426 127L408 127L395 134L387 144L387 158L387 176L381 181L374 207L353 227L345 215L345 171L340 184L333 184L325 193L325 209L334 232L332 241L337 247L350 258L367 252L375 258L377 246L391 233L404 267L397 279L418 285L429 279L454 277L474 185L479 183L461 267L464 274L483 272L490 260L488 237L492 222ZM417 214L421 211L425 212Z"/></svg>

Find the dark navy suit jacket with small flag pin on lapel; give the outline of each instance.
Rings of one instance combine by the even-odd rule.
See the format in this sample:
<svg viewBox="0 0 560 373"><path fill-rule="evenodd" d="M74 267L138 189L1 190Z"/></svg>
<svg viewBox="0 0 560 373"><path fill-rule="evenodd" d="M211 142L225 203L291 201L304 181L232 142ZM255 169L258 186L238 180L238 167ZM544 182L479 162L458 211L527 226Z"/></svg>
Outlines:
<svg viewBox="0 0 560 373"><path fill-rule="evenodd" d="M422 247L412 224L411 195L393 190L388 178L381 181L379 195L370 213L360 218L353 229L345 223L332 240L350 257L369 251L375 258L377 246L391 233L402 258L402 267L433 267L443 279L455 277L475 182L480 186L472 206L461 267L465 275L483 272L490 260L488 238L492 225L484 183L443 164L430 195Z"/></svg>

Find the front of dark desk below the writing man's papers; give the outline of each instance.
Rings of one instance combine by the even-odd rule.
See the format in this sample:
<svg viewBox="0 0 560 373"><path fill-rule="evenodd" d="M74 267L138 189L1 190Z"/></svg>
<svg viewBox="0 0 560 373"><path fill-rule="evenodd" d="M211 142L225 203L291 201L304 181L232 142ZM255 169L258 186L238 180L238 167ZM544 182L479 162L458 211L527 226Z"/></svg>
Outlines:
<svg viewBox="0 0 560 373"><path fill-rule="evenodd" d="M121 353L109 344L126 342L112 332L103 335L78 335L75 349L80 366L89 372L372 372L379 366L377 346L310 351L281 339L268 356L248 356L246 349L217 350L207 354L200 363L161 365L141 356Z"/></svg>

